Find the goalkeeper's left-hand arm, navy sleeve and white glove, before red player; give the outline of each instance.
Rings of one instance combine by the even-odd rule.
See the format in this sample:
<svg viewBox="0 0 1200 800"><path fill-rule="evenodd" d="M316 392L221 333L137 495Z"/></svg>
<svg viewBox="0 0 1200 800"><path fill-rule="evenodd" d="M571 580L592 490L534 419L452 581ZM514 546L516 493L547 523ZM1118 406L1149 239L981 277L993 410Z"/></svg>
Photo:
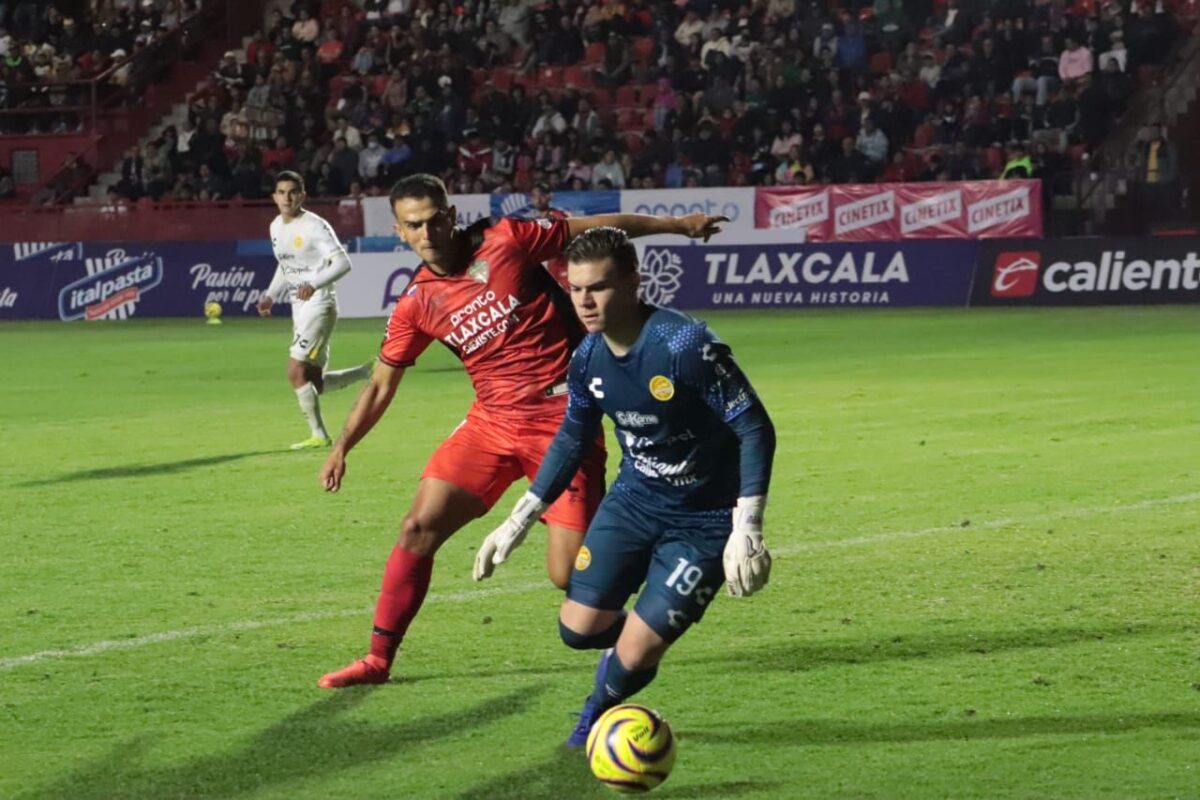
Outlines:
<svg viewBox="0 0 1200 800"><path fill-rule="evenodd" d="M503 564L512 551L521 546L533 524L558 499L558 495L566 491L595 440L602 411L588 392L583 379L589 353L590 348L581 347L571 357L566 415L563 417L563 425L554 434L554 440L546 451L546 458L538 468L538 475L529 491L517 500L508 519L484 537L482 545L479 546L473 572L475 581L490 577L496 565Z"/></svg>

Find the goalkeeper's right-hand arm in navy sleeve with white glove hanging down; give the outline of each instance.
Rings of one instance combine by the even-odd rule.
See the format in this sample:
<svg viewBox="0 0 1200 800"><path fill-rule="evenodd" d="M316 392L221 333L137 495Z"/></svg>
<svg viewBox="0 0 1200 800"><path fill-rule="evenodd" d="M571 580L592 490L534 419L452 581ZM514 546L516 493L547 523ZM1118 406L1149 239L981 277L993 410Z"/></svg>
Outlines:
<svg viewBox="0 0 1200 800"><path fill-rule="evenodd" d="M770 553L763 543L762 517L775 459L775 426L728 345L710 331L698 348L678 355L679 378L700 392L708 407L738 438L740 483L733 525L725 543L725 583L734 597L749 596L770 579Z"/></svg>

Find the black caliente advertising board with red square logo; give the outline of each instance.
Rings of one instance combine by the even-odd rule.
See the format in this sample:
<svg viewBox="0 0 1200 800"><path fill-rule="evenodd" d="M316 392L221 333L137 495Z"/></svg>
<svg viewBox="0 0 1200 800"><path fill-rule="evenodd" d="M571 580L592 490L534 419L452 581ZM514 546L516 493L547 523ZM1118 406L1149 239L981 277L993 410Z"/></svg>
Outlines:
<svg viewBox="0 0 1200 800"><path fill-rule="evenodd" d="M980 242L971 303L1100 306L1200 302L1200 237Z"/></svg>

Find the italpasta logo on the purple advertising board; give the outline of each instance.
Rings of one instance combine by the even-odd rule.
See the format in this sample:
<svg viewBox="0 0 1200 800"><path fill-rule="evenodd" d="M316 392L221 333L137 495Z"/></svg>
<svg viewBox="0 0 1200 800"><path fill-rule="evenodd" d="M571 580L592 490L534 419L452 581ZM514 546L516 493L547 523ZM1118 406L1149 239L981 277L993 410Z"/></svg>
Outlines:
<svg viewBox="0 0 1200 800"><path fill-rule="evenodd" d="M162 259L154 253L127 255L116 248L85 261L88 276L59 291L59 318L126 319L138 300L162 283Z"/></svg>

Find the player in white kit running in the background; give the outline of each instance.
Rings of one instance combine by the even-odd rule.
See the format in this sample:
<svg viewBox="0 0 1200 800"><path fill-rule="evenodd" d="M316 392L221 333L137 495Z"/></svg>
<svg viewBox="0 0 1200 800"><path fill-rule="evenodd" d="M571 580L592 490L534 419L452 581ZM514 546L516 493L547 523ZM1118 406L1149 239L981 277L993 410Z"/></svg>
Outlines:
<svg viewBox="0 0 1200 800"><path fill-rule="evenodd" d="M280 173L271 197L280 210L271 222L271 248L278 267L258 301L258 313L269 317L271 306L292 295L288 380L312 429L312 435L292 445L292 450L328 447L331 441L320 417L318 396L326 389L366 379L373 363L325 371L329 339L337 323L334 283L350 271L350 257L329 223L304 209L304 178L293 172Z"/></svg>

